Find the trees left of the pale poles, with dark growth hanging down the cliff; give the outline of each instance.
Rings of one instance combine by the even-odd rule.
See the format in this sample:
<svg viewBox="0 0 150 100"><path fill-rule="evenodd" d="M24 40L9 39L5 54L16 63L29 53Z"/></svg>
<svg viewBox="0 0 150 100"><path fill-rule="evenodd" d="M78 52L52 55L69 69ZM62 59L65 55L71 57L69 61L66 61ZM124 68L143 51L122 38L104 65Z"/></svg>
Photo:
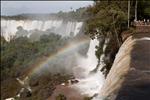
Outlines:
<svg viewBox="0 0 150 100"><path fill-rule="evenodd" d="M105 75L108 74L113 63L114 54L112 53L116 53L116 48L118 49L121 45L121 32L127 29L127 6L125 4L127 4L127 1L95 1L93 7L89 7L87 10L91 16L86 22L86 33L91 38L97 37L100 41L102 40L96 47L95 54L98 58L98 65L95 70L100 65L101 54L105 53L105 56L110 58L108 59L109 61L105 60L105 58L103 59L106 66L101 71L106 69ZM115 48L112 48L109 42L105 50L107 53L103 51L106 38L109 38L110 41L113 39L117 43L113 45Z"/></svg>

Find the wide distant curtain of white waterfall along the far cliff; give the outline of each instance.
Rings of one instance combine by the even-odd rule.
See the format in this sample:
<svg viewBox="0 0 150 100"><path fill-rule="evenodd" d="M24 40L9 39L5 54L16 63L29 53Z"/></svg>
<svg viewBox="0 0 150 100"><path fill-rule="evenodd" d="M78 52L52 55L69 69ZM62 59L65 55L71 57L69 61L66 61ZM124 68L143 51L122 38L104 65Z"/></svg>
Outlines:
<svg viewBox="0 0 150 100"><path fill-rule="evenodd" d="M69 36L70 33L74 33L74 36L79 33L82 22L77 21L64 21L64 20L4 20L1 19L1 35L9 41L11 36L15 36L17 27L22 26L24 30L31 32L38 29L40 31L51 30L54 33L62 36ZM29 34L31 35L31 33Z"/></svg>

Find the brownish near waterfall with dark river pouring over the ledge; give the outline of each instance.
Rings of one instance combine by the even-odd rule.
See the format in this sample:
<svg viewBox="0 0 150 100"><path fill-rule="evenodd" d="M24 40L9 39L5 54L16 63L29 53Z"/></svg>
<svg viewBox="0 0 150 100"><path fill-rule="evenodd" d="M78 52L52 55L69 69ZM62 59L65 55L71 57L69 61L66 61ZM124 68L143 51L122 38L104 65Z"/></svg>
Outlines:
<svg viewBox="0 0 150 100"><path fill-rule="evenodd" d="M125 40L100 95L102 100L150 100L150 32Z"/></svg>

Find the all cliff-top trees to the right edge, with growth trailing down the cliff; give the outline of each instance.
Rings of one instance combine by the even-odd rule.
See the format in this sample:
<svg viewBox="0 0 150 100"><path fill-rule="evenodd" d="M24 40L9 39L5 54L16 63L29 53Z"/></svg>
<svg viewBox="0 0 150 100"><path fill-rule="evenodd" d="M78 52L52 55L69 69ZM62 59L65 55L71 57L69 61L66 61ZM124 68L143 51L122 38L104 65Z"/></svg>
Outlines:
<svg viewBox="0 0 150 100"><path fill-rule="evenodd" d="M106 47L105 55L109 58L109 61L104 59L106 66L102 68L105 70L105 75L108 74L115 53L122 44L121 33L129 30L129 25L136 19L143 20L144 18L150 18L150 1L132 0L132 1L94 1L93 6L87 8L87 14L89 15L86 21L86 34L92 39L97 37L100 40L104 38L110 39L109 44ZM129 15L129 16L128 16ZM97 47L96 55L100 60L102 52L102 44ZM107 56L109 55L109 56ZM105 58L106 58L105 57ZM100 62L100 61L99 61Z"/></svg>

